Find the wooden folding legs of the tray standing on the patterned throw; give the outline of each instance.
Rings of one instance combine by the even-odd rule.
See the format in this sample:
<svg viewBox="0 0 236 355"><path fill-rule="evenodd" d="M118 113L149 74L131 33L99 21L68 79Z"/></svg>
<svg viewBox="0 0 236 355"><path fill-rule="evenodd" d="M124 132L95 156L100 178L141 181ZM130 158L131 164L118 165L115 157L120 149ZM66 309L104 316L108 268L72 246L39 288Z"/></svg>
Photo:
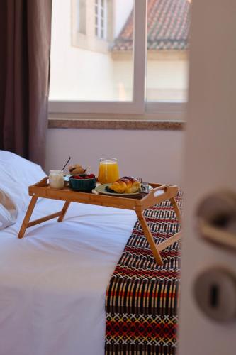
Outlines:
<svg viewBox="0 0 236 355"><path fill-rule="evenodd" d="M176 204L176 200L174 199L174 197L170 198L169 200L172 202L174 212L176 213L176 217L179 221L179 224L181 225L181 213L179 211L178 204ZM142 212L136 211L136 214L137 214L137 218L142 226L142 230L144 231L144 234L147 238L147 241L150 244L150 249L152 250L153 256L154 256L155 260L157 261L157 265L162 266L163 261L162 261L162 256L160 255L160 252L162 250L166 249L167 246L172 245L175 241L178 241L181 238L181 232L176 233L173 236L170 236L167 240L162 241L162 243L160 243L160 244L156 244Z"/></svg>

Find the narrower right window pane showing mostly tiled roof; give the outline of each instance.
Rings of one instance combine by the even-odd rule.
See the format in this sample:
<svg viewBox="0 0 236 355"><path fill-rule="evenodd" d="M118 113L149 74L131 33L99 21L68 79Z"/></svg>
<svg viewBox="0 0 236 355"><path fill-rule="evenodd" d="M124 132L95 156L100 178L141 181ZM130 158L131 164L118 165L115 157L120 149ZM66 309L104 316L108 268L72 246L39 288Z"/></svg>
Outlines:
<svg viewBox="0 0 236 355"><path fill-rule="evenodd" d="M147 4L147 101L187 101L190 1Z"/></svg>

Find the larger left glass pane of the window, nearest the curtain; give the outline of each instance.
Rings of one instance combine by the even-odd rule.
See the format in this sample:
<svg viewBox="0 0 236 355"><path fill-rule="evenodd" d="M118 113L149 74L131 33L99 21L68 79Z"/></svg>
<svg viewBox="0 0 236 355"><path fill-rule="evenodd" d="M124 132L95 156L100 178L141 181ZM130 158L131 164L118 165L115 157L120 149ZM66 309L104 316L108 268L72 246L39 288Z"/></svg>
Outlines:
<svg viewBox="0 0 236 355"><path fill-rule="evenodd" d="M133 99L133 0L52 1L50 99Z"/></svg>

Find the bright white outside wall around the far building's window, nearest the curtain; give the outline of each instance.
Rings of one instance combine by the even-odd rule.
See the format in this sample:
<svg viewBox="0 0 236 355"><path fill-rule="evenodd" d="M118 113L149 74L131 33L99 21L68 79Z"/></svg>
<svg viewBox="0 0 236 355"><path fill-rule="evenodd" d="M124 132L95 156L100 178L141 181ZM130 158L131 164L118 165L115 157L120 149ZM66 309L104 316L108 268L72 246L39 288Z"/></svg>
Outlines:
<svg viewBox="0 0 236 355"><path fill-rule="evenodd" d="M50 99L109 99L111 55L72 46L71 18L71 1L53 1Z"/></svg>

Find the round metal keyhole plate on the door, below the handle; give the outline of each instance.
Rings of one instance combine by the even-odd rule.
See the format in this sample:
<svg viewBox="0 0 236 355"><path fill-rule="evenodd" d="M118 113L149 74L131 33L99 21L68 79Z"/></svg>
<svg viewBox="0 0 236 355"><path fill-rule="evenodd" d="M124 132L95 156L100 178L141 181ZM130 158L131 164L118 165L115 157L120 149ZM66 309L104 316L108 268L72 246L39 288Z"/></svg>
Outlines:
<svg viewBox="0 0 236 355"><path fill-rule="evenodd" d="M230 322L236 319L236 280L223 268L209 268L194 283L198 307L210 319Z"/></svg>

